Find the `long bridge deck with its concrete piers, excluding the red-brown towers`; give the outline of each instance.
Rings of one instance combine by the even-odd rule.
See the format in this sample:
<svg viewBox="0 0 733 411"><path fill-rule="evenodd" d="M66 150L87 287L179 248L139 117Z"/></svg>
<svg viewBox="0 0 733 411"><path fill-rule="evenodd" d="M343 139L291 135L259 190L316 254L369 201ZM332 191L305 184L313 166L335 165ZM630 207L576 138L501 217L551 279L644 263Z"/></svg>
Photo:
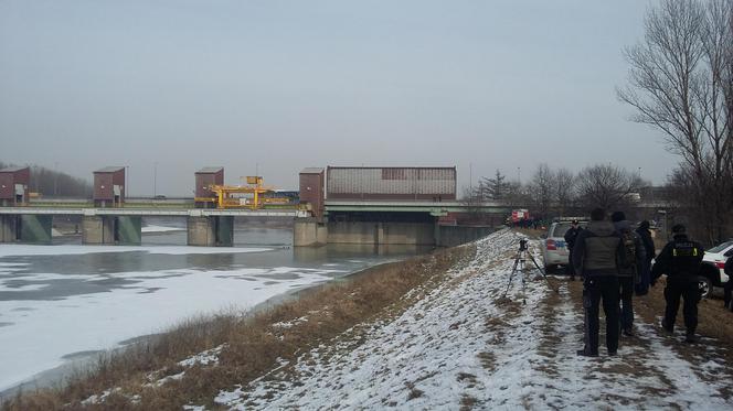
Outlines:
<svg viewBox="0 0 733 411"><path fill-rule="evenodd" d="M235 217L293 219L296 246L318 246L328 242L436 245L442 244L436 238L446 236L454 238L456 235L453 231L461 230L456 227L438 228L439 218L455 213L480 212L506 215L509 212L508 207L497 203L469 206L460 202L327 201L326 218L317 219L309 217L308 212L294 207L190 208L193 198L160 203L139 198L121 207L104 208L88 207L88 204L83 198L46 199L38 204L31 203L29 206L0 207L0 242L50 244L54 216L78 216L82 218L82 242L87 245L139 245L142 217L185 218L187 244L190 246L232 246ZM440 229L443 234L439 232ZM448 234L449 231L453 234ZM470 238L479 234L472 234Z"/></svg>

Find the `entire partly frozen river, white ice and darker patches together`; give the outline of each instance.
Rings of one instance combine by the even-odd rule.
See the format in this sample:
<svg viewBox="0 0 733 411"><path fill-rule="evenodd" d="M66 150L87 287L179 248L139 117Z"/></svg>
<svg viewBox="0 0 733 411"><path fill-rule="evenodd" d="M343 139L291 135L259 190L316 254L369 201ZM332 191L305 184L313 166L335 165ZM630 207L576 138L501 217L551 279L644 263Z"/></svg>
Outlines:
<svg viewBox="0 0 733 411"><path fill-rule="evenodd" d="M0 392L200 314L274 296L425 249L291 248L289 228L237 228L235 247L187 247L176 221L141 247L0 245ZM59 368L60 367L60 368Z"/></svg>

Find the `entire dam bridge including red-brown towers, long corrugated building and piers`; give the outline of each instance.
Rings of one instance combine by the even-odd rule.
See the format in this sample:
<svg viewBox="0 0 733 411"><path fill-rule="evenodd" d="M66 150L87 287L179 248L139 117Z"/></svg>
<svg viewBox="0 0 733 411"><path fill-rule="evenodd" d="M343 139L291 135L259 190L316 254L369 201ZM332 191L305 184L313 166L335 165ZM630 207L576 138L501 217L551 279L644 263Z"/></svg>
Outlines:
<svg viewBox="0 0 733 411"><path fill-rule="evenodd" d="M288 197L288 205L258 205L256 198L252 203L212 191L238 190L222 185L223 173L223 167L196 172L193 198L130 198L125 167L104 167L94 172L92 198L63 199L31 196L28 167L0 170L0 242L51 242L54 216L78 216L84 244L136 245L141 218L164 216L187 218L191 246L232 246L236 217L293 219L295 246L453 246L488 234L511 208L521 208L458 201L455 167L309 167L299 173L299 190L293 192L299 204ZM485 226L469 225L477 220Z"/></svg>

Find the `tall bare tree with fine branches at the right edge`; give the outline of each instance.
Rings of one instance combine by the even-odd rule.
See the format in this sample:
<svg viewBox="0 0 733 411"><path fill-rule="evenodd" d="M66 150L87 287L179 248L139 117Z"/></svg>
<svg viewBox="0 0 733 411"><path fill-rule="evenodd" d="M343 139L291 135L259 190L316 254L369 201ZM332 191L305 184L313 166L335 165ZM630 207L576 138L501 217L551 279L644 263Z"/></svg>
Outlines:
<svg viewBox="0 0 733 411"><path fill-rule="evenodd" d="M662 131L681 159L672 180L689 180L680 199L722 239L733 201L733 0L663 0L625 54L629 85L618 97L635 121Z"/></svg>

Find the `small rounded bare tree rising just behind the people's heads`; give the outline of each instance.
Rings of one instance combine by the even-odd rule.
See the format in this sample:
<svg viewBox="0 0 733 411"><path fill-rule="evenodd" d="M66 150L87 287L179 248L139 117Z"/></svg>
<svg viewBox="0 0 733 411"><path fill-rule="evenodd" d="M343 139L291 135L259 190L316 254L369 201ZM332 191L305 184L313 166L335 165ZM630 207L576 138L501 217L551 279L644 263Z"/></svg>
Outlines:
<svg viewBox="0 0 733 411"><path fill-rule="evenodd" d="M580 201L587 208L627 208L633 201L631 194L640 186L641 181L636 174L612 164L593 165L577 175Z"/></svg>

